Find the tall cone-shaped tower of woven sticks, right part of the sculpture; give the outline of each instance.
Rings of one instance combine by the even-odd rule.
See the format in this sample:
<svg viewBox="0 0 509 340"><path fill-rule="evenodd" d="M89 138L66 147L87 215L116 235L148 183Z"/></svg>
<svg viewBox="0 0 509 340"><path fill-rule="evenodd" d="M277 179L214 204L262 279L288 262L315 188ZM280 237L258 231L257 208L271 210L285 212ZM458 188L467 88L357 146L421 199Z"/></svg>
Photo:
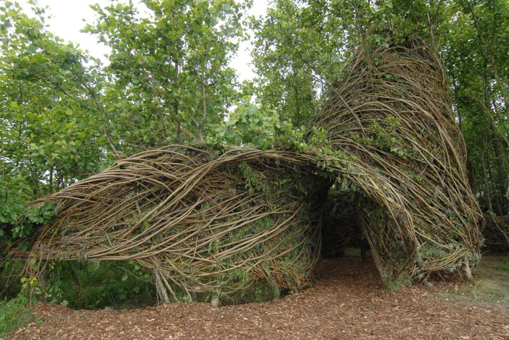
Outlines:
<svg viewBox="0 0 509 340"><path fill-rule="evenodd" d="M336 190L361 192L358 215L384 282L476 263L484 223L438 55L406 46L359 49L308 138L342 160Z"/></svg>

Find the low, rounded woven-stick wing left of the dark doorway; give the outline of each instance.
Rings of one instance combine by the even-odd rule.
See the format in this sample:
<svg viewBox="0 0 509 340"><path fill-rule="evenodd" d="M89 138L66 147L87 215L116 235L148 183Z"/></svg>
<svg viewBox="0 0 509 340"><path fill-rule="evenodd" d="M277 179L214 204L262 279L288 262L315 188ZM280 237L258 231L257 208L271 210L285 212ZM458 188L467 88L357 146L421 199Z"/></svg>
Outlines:
<svg viewBox="0 0 509 340"><path fill-rule="evenodd" d="M134 260L155 274L163 301L177 299L176 287L188 298L224 296L260 279L302 289L318 260L316 203L328 181L309 175L304 156L217 153L189 146L138 153L44 197L56 214L38 230L32 252L41 266Z"/></svg>

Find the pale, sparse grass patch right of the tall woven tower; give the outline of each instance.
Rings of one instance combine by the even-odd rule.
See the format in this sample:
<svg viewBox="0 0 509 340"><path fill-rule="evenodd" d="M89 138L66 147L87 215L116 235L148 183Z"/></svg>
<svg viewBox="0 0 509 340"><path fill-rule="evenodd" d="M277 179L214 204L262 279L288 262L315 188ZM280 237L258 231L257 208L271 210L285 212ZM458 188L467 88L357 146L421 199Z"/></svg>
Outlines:
<svg viewBox="0 0 509 340"><path fill-rule="evenodd" d="M484 255L473 274L472 281L460 284L440 296L509 310L509 257Z"/></svg>

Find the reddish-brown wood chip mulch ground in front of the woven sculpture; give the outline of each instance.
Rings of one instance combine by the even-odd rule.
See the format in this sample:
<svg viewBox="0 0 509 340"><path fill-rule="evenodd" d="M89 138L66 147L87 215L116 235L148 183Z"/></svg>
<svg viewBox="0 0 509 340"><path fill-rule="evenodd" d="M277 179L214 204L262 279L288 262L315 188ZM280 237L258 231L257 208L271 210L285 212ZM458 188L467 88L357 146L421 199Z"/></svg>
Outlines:
<svg viewBox="0 0 509 340"><path fill-rule="evenodd" d="M38 304L9 339L509 339L509 313L437 297L454 283L381 290L371 262L327 260L315 286L267 303L175 303L126 311Z"/></svg>

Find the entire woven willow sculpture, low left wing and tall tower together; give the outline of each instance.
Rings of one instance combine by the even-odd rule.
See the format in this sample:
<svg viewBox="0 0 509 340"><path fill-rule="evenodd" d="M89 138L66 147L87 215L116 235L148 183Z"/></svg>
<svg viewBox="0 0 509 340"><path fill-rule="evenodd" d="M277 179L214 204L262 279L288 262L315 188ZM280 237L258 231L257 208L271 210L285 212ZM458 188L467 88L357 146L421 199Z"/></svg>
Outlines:
<svg viewBox="0 0 509 340"><path fill-rule="evenodd" d="M341 249L361 226L386 285L468 273L483 220L449 85L431 49L403 45L359 48L310 121L305 152L138 153L35 202L51 202L54 217L20 256L38 259L36 272L48 260L133 260L164 301L175 289L228 295L256 280L300 290L322 236Z"/></svg>

